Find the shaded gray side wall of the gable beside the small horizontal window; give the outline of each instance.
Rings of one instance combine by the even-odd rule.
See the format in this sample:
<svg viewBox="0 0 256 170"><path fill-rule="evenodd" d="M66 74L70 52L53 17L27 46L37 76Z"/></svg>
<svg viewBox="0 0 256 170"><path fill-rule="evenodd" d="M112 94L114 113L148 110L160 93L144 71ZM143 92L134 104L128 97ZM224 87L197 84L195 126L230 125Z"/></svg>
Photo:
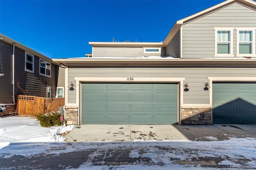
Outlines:
<svg viewBox="0 0 256 170"><path fill-rule="evenodd" d="M180 30L166 46L166 56L180 58Z"/></svg>

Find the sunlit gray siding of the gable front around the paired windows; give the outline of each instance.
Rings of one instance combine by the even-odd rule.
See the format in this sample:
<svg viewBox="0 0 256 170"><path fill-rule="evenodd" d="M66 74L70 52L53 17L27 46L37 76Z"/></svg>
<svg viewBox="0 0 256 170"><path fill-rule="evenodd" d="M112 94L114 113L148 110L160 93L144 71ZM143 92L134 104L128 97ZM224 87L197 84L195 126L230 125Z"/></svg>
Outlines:
<svg viewBox="0 0 256 170"><path fill-rule="evenodd" d="M182 57L214 57L214 27L256 27L256 11L232 4L182 26ZM236 30L233 32L236 55Z"/></svg>

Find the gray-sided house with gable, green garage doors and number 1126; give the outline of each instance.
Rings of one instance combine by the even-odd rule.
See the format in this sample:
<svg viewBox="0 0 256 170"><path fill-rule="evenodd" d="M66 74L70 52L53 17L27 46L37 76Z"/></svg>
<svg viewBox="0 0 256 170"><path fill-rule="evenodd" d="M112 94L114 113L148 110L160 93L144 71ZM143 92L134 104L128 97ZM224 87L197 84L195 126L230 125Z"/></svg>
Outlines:
<svg viewBox="0 0 256 170"><path fill-rule="evenodd" d="M163 42L89 42L65 69L70 124L256 123L256 2L178 20Z"/></svg>

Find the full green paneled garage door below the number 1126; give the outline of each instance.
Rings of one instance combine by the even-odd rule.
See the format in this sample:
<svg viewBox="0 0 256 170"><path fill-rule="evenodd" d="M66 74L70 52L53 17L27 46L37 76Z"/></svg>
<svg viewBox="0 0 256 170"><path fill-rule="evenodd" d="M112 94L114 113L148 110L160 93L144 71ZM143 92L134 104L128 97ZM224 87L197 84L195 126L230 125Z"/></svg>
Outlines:
<svg viewBox="0 0 256 170"><path fill-rule="evenodd" d="M176 124L177 84L82 83L82 124Z"/></svg>

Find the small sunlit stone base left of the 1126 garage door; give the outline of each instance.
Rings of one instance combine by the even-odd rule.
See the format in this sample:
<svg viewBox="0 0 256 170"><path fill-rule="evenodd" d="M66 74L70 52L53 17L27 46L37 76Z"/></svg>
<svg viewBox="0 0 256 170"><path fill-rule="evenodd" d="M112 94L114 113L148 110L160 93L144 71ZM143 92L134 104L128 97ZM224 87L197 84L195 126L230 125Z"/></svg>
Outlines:
<svg viewBox="0 0 256 170"><path fill-rule="evenodd" d="M65 107L65 119L68 125L78 125L78 107Z"/></svg>

